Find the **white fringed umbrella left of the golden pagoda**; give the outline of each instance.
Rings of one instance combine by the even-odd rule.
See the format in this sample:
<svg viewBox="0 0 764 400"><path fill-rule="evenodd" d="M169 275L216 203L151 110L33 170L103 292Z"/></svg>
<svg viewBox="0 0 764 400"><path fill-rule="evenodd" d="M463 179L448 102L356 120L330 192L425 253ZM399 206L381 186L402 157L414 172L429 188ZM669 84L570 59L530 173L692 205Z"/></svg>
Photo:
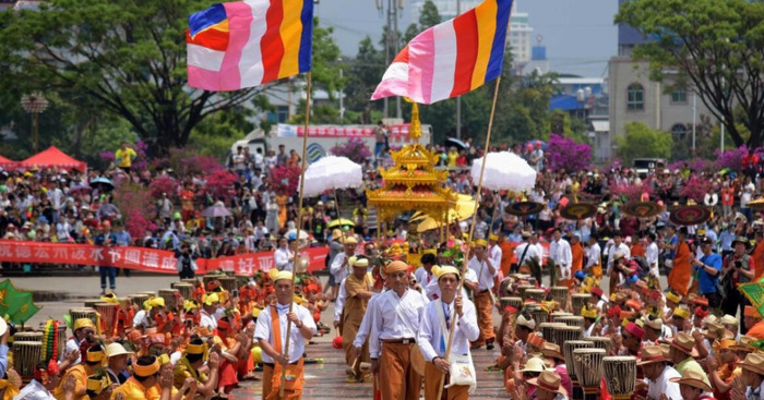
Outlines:
<svg viewBox="0 0 764 400"><path fill-rule="evenodd" d="M329 190L358 187L362 183L360 165L346 157L329 156L308 167L302 193L306 197L313 197Z"/></svg>

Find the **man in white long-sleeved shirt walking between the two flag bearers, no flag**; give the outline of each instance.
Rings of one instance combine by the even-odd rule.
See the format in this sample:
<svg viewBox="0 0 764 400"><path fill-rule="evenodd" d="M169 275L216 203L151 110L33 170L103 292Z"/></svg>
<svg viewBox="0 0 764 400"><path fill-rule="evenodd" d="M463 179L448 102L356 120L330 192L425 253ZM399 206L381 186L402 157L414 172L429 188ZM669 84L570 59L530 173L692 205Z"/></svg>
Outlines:
<svg viewBox="0 0 764 400"><path fill-rule="evenodd" d="M419 399L421 375L411 365L425 298L409 289L408 265L392 262L384 267L390 290L378 295L369 337L371 372L379 374L382 399Z"/></svg>

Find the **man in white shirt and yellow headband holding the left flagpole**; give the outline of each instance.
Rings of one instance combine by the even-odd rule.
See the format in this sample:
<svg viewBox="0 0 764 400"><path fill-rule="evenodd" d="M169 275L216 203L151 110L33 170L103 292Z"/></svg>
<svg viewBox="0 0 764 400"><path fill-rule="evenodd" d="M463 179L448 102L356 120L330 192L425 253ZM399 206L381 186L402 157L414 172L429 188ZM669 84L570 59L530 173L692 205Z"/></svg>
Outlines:
<svg viewBox="0 0 764 400"><path fill-rule="evenodd" d="M299 399L305 383L302 353L306 344L318 330L308 308L293 303L295 288L291 272L279 271L273 284L276 291L276 304L265 307L258 316L258 323L254 326L254 339L263 349L263 399L274 396L273 391L279 390L278 386L272 385L275 363L287 368L290 375L296 375L293 387L285 385L287 390L284 395L286 398ZM276 314L278 317L275 317ZM285 351L287 335L289 335L289 349Z"/></svg>

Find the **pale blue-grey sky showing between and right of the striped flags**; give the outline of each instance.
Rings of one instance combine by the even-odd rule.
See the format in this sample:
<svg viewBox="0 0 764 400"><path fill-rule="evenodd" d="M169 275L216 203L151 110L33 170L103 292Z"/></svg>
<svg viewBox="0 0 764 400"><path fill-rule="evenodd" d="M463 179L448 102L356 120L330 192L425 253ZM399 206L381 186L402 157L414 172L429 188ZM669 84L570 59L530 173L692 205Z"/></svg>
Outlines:
<svg viewBox="0 0 764 400"><path fill-rule="evenodd" d="M386 7L387 0L379 0ZM618 0L515 0L517 12L528 13L534 36L541 35L550 69L586 77L607 76L607 61L618 52L613 15ZM353 57L367 35L379 43L384 13L377 0L320 0L315 14L322 25L334 27L334 39L343 54ZM398 22L404 32L410 23L411 1Z"/></svg>

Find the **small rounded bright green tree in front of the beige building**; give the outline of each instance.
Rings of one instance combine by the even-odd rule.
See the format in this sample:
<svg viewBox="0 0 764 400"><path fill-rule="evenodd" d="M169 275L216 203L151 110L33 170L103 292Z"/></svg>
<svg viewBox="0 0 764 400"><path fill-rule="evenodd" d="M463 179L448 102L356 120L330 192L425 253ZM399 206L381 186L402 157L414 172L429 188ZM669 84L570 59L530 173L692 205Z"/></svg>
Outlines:
<svg viewBox="0 0 764 400"><path fill-rule="evenodd" d="M671 156L673 138L669 133L652 130L642 122L629 122L625 130L625 135L616 138L618 157L625 165L631 165L634 158Z"/></svg>

